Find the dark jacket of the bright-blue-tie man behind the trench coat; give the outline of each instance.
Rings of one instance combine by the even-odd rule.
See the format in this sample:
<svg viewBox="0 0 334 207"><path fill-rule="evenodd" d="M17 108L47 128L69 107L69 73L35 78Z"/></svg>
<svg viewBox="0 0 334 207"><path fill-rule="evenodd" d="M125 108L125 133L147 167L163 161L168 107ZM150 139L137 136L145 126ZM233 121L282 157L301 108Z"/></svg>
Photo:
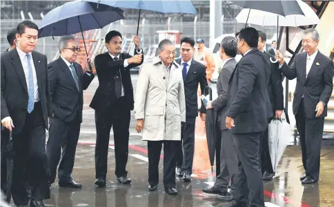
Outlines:
<svg viewBox="0 0 334 207"><path fill-rule="evenodd" d="M181 66L181 58L175 60ZM186 117L197 117L198 116L198 103L197 103L197 89L198 83L201 87L202 94L204 88L208 86L206 81L206 69L202 63L191 61L190 68L187 72L186 78L184 79L184 95L186 95ZM206 107L202 101L201 113L206 114Z"/></svg>

